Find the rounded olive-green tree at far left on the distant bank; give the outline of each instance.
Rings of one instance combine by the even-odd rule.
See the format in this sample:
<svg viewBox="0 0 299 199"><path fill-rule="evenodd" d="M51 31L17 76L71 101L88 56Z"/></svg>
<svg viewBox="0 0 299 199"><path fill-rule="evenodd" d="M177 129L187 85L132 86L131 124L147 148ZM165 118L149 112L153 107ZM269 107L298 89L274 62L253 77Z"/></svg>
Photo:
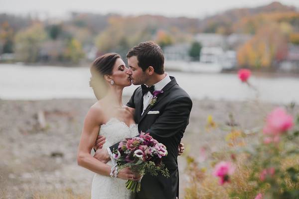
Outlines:
<svg viewBox="0 0 299 199"><path fill-rule="evenodd" d="M16 58L24 62L36 62L42 42L46 39L42 24L35 23L15 36Z"/></svg>

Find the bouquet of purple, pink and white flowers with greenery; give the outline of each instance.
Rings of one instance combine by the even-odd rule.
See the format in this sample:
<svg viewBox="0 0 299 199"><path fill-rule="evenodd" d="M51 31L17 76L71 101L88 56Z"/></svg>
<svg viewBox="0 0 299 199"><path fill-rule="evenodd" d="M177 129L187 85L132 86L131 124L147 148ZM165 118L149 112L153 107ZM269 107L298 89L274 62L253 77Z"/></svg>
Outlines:
<svg viewBox="0 0 299 199"><path fill-rule="evenodd" d="M158 172L169 177L168 169L162 163L162 157L167 155L166 147L153 139L149 133L141 133L140 137L133 137L120 142L118 149L113 151L117 167L130 167L133 172L141 176L149 173L157 176ZM128 180L126 188L132 192L139 192L140 181Z"/></svg>

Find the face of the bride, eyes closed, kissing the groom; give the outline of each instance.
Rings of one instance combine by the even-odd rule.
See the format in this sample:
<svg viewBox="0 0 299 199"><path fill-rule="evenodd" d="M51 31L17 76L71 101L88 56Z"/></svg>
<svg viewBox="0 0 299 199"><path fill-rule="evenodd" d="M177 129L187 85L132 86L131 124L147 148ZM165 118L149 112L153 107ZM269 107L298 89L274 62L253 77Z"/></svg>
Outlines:
<svg viewBox="0 0 299 199"><path fill-rule="evenodd" d="M131 78L127 74L128 70L125 62L118 58L113 66L111 75L115 85L128 87L132 84Z"/></svg>

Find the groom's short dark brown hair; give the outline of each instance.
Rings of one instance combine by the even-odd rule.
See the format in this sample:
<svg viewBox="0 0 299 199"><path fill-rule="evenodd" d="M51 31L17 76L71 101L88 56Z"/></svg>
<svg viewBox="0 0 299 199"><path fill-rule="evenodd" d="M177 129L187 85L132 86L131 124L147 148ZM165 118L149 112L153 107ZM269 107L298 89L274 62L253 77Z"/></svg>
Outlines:
<svg viewBox="0 0 299 199"><path fill-rule="evenodd" d="M142 42L133 47L127 54L127 58L137 56L138 66L146 71L149 66L152 66L154 72L164 74L164 56L161 47L152 42Z"/></svg>

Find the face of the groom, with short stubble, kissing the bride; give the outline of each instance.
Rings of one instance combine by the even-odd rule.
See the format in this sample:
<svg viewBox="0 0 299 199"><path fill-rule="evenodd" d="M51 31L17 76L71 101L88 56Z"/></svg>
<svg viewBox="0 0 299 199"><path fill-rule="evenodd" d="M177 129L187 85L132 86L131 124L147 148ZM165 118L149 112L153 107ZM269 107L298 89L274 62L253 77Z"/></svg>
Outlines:
<svg viewBox="0 0 299 199"><path fill-rule="evenodd" d="M137 56L132 56L128 58L129 70L128 73L132 79L134 85L146 84L149 75L147 71L143 71L141 67L138 66Z"/></svg>

